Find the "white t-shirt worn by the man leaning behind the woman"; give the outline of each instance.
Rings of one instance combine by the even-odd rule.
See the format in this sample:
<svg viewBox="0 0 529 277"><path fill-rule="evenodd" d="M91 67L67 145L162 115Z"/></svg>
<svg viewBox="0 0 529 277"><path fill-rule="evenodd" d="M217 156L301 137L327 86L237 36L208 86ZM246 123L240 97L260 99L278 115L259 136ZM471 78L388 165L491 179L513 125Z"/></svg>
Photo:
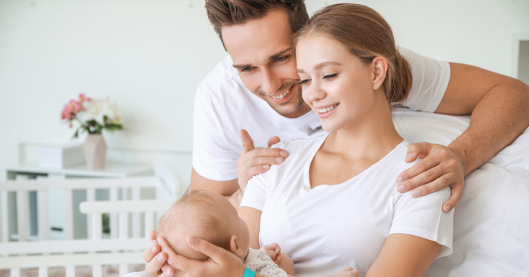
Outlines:
<svg viewBox="0 0 529 277"><path fill-rule="evenodd" d="M406 107L434 112L450 79L450 65L400 48L411 64L413 85ZM228 181L238 178L237 159L242 153L239 130L249 132L256 147L267 147L272 136L281 140L324 134L320 119L308 112L287 119L242 84L228 56L198 85L194 106L193 167L205 178Z"/></svg>

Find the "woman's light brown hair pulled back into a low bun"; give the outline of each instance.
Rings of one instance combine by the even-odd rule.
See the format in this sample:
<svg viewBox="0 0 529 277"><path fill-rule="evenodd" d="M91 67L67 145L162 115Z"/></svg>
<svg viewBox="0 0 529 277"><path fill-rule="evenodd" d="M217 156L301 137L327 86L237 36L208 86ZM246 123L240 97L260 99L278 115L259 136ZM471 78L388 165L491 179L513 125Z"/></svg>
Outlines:
<svg viewBox="0 0 529 277"><path fill-rule="evenodd" d="M307 35L330 37L366 63L382 57L388 63L384 89L390 103L402 102L413 81L411 66L395 46L391 27L372 8L359 4L335 4L322 8L298 32L293 49Z"/></svg>

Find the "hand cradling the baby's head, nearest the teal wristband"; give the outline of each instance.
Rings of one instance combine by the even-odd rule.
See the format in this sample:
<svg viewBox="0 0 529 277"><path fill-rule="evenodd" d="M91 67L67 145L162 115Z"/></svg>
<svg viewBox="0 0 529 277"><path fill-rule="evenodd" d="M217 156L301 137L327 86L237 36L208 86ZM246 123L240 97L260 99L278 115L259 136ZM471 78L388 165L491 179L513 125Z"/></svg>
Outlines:
<svg viewBox="0 0 529 277"><path fill-rule="evenodd" d="M200 238L189 236L187 244L208 256L207 260L185 258L174 253L165 240L160 239L159 243L167 254L167 264L170 266L164 267L165 277L242 277L245 274L245 265L238 256Z"/></svg>

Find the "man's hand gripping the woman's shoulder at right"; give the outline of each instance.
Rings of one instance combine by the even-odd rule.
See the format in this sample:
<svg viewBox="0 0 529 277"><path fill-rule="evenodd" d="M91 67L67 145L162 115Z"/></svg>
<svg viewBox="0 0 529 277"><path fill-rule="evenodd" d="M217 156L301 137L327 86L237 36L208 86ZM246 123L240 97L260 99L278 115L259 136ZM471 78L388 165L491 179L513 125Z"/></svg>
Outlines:
<svg viewBox="0 0 529 277"><path fill-rule="evenodd" d="M422 161L397 177L397 191L408 192L413 189L411 195L420 197L450 186L452 196L443 204L443 211L449 212L461 199L465 185L463 155L443 145L415 143L408 147L406 163L417 158L422 158Z"/></svg>

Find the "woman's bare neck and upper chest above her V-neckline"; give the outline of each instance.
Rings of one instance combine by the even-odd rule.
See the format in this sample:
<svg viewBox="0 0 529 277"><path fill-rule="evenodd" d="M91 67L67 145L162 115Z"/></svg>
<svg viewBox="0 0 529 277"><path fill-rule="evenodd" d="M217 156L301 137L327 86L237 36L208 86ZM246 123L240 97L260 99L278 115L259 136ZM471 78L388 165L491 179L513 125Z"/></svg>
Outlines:
<svg viewBox="0 0 529 277"><path fill-rule="evenodd" d="M323 145L326 152L340 153L348 160L369 158L378 161L402 142L393 125L391 106L384 93L376 94L369 112L329 135Z"/></svg>

